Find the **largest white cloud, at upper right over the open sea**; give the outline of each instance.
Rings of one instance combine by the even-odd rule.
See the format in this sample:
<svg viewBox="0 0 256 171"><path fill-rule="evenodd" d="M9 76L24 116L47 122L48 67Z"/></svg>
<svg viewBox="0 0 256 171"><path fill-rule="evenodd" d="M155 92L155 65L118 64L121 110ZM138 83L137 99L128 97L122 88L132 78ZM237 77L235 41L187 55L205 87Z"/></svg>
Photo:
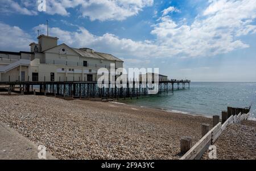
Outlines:
<svg viewBox="0 0 256 171"><path fill-rule="evenodd" d="M240 36L255 33L256 1L212 1L191 25L164 16L152 25L161 49L170 55L207 57L248 48Z"/></svg>

